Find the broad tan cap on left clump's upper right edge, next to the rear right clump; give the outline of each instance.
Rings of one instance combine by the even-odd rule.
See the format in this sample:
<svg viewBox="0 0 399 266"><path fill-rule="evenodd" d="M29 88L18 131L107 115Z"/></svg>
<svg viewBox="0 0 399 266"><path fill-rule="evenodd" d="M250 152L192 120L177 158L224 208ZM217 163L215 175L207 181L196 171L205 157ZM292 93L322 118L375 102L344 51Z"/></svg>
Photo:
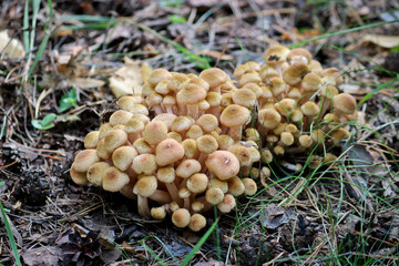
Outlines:
<svg viewBox="0 0 399 266"><path fill-rule="evenodd" d="M238 104L228 105L221 114L221 123L227 127L245 125L249 120L249 110Z"/></svg>

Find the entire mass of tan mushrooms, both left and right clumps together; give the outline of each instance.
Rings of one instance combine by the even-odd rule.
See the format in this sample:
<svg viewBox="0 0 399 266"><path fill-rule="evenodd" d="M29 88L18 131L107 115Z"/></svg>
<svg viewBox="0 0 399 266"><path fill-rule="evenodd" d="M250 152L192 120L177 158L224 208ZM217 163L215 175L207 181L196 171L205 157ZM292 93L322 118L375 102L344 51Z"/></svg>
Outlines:
<svg viewBox="0 0 399 266"><path fill-rule="evenodd" d="M155 69L140 95L120 98L120 110L85 136L72 180L120 192L136 200L141 215L171 214L175 226L197 232L209 209L229 213L237 196L256 194L254 178L269 174L262 162L349 134L342 122L356 119L356 101L338 92L337 69L283 45L270 47L265 61L238 65L238 81L217 68L200 75Z"/></svg>

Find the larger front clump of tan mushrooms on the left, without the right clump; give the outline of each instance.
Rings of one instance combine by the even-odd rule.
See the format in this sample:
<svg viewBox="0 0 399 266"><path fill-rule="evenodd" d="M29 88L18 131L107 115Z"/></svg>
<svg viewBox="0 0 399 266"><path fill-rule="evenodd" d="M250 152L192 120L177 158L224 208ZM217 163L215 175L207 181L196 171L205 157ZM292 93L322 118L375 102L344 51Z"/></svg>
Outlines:
<svg viewBox="0 0 399 266"><path fill-rule="evenodd" d="M218 69L200 76L154 70L144 98L120 98L121 110L86 135L72 180L135 198L143 216L171 213L174 225L192 231L205 226L203 214L214 205L231 212L235 197L256 193L256 183L238 175L260 153L255 142L241 141L250 111L221 105L223 91L233 89L228 83Z"/></svg>

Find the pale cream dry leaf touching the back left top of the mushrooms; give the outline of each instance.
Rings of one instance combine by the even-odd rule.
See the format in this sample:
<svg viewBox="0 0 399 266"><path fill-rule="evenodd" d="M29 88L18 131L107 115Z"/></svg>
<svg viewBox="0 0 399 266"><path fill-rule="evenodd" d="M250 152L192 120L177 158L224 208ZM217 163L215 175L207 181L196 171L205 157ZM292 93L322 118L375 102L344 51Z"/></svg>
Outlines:
<svg viewBox="0 0 399 266"><path fill-rule="evenodd" d="M125 58L125 64L110 78L110 88L115 98L141 94L143 71L140 62Z"/></svg>

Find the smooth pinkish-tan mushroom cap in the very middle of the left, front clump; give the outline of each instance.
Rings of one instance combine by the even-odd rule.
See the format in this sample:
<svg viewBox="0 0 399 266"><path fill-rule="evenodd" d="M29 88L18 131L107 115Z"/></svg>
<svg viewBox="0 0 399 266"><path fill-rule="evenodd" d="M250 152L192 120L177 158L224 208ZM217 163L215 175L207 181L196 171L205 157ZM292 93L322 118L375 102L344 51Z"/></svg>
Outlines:
<svg viewBox="0 0 399 266"><path fill-rule="evenodd" d="M160 166L177 162L184 156L184 147L173 139L166 139L156 145L155 161Z"/></svg>

